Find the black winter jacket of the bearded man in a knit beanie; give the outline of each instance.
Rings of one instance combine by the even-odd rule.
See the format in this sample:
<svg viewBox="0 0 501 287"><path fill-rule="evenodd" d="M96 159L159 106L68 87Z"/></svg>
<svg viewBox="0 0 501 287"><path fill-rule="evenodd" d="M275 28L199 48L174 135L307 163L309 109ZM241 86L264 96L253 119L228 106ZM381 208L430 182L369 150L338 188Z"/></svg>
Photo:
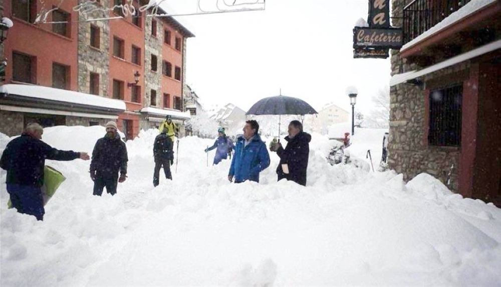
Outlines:
<svg viewBox="0 0 501 287"><path fill-rule="evenodd" d="M105 135L94 146L90 171L91 174L97 171L105 175L117 175L120 171L121 175L126 175L128 161L127 148L120 135L117 134L115 138Z"/></svg>

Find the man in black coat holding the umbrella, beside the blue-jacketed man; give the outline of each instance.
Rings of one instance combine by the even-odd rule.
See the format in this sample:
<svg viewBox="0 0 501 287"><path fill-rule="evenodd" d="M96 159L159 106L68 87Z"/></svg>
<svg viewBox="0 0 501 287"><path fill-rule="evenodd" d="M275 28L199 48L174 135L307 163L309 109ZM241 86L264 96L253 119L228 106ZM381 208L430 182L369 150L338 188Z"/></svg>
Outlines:
<svg viewBox="0 0 501 287"><path fill-rule="evenodd" d="M306 186L306 169L310 156L310 141L312 136L303 131L303 124L293 120L289 124L289 135L285 137L287 146L284 149L278 142L272 151L280 157L277 167L278 180L287 179Z"/></svg>

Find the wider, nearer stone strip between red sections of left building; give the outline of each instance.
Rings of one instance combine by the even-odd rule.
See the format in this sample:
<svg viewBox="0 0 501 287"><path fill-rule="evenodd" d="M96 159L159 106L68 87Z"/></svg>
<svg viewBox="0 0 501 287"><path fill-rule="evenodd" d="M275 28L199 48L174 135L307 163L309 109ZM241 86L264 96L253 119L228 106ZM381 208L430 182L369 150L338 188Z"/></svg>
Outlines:
<svg viewBox="0 0 501 287"><path fill-rule="evenodd" d="M79 0L79 3L88 0ZM109 7L109 1L102 0L101 6ZM99 4L96 4L99 5ZM107 17L106 13L95 12L79 15L80 21ZM91 25L100 29L99 49L90 46ZM90 93L90 73L99 74L99 95L108 97L108 78L110 68L110 26L108 21L80 22L78 25L78 91Z"/></svg>

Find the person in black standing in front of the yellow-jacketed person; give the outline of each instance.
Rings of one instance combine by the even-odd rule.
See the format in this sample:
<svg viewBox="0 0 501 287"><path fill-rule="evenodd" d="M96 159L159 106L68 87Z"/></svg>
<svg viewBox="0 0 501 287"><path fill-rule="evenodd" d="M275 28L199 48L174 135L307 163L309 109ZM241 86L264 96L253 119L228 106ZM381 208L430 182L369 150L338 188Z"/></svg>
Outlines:
<svg viewBox="0 0 501 287"><path fill-rule="evenodd" d="M167 135L167 128L161 130L160 134L155 137L153 144L153 156L155 158L155 171L153 172L153 186L157 186L160 180L160 169L163 167L165 178L172 180L170 166L174 163L174 151L172 150L174 143L170 136Z"/></svg>

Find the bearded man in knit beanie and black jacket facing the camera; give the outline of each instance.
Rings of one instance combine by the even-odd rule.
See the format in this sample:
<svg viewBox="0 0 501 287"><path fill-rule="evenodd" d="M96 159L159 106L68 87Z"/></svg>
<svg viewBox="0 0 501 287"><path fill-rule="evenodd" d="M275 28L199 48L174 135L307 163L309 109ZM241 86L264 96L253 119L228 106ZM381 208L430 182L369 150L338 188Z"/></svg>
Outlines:
<svg viewBox="0 0 501 287"><path fill-rule="evenodd" d="M122 183L127 175L127 148L118 134L114 121L106 124L106 135L97 140L92 152L91 179L94 181L94 195L101 196L103 189L115 195L117 181ZM120 171L120 178L118 172Z"/></svg>

